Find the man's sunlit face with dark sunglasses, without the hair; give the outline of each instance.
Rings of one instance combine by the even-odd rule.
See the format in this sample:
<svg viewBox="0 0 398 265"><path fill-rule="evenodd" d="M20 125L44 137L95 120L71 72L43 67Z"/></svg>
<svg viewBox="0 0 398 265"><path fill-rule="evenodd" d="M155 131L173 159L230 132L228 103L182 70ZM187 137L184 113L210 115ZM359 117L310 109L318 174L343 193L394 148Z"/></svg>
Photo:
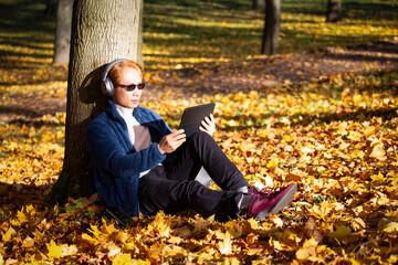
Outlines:
<svg viewBox="0 0 398 265"><path fill-rule="evenodd" d="M115 86L115 94L112 96L112 99L115 104L126 107L126 108L136 108L139 104L139 98L143 91L135 87L134 91L127 91L122 85L138 85L143 81L138 74L138 72L134 68L123 68L122 70L122 78Z"/></svg>

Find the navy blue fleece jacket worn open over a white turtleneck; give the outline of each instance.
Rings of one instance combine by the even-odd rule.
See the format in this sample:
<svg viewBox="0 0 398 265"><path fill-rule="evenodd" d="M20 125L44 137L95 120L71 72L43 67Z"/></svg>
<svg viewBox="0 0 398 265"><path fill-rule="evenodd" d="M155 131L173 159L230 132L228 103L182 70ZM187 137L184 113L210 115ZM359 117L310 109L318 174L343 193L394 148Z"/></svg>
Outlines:
<svg viewBox="0 0 398 265"><path fill-rule="evenodd" d="M134 117L148 126L153 144L136 151L128 137L127 125L115 104L108 107L86 127L88 153L94 162L94 179L98 194L111 208L119 206L130 216L139 215L139 173L156 167L166 159L158 142L171 132L170 127L155 112L136 107Z"/></svg>

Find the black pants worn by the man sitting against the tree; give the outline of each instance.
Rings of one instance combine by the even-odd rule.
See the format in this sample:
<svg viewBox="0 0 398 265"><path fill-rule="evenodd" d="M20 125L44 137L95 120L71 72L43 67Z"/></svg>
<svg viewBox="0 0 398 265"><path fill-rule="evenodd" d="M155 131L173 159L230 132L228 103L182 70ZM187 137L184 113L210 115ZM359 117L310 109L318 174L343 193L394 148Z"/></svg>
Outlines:
<svg viewBox="0 0 398 265"><path fill-rule="evenodd" d="M195 181L201 167L222 191L210 190ZM140 212L151 215L160 210L169 214L196 210L219 219L235 218L237 190L248 186L212 137L201 131L178 148L172 162L158 166L139 179Z"/></svg>

